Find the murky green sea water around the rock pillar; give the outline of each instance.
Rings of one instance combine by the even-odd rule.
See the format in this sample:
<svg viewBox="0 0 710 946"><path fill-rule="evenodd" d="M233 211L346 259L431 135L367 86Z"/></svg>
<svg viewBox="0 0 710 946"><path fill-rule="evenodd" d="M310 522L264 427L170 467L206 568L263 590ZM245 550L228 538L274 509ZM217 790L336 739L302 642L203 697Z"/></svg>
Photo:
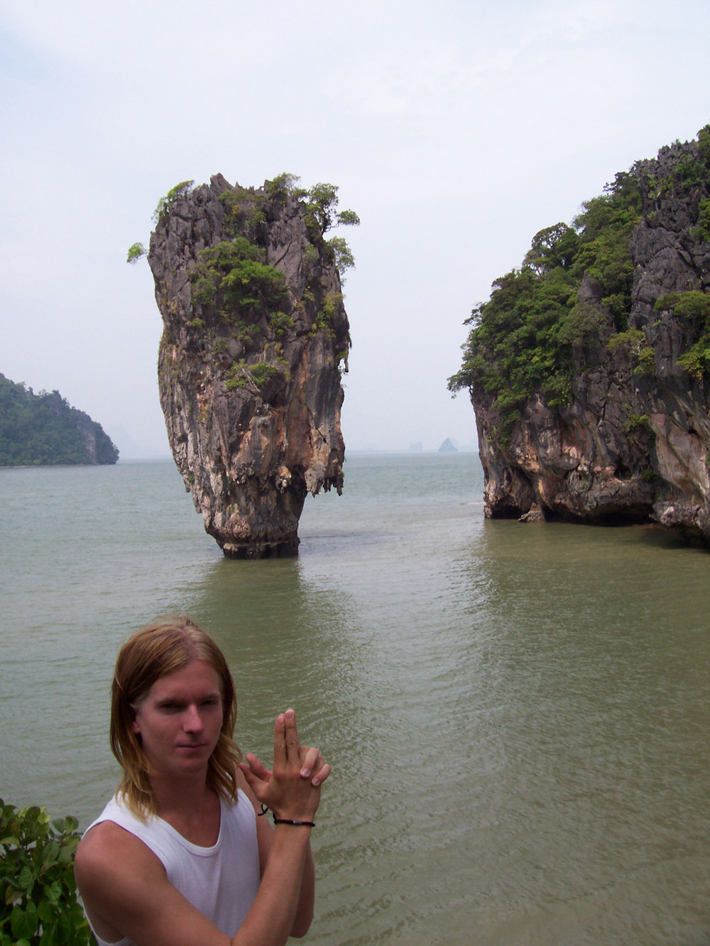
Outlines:
<svg viewBox="0 0 710 946"><path fill-rule="evenodd" d="M86 823L115 652L186 609L239 741L334 764L309 941L710 943L710 554L486 522L477 459L354 456L298 559L231 562L171 464L0 471L0 794Z"/></svg>

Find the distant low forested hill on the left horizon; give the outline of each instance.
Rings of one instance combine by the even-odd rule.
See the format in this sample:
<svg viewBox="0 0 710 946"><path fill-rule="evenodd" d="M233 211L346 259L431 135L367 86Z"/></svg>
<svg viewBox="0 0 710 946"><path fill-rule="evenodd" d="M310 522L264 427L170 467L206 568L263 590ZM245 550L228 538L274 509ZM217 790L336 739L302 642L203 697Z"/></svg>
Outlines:
<svg viewBox="0 0 710 946"><path fill-rule="evenodd" d="M34 394L0 375L0 466L115 464L101 425L59 391Z"/></svg>

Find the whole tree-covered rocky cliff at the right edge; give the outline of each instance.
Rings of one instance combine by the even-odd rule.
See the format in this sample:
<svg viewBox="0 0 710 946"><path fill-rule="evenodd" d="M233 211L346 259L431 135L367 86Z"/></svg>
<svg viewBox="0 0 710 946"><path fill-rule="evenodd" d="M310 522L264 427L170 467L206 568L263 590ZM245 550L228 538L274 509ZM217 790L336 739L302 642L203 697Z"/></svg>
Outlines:
<svg viewBox="0 0 710 946"><path fill-rule="evenodd" d="M710 126L533 240L474 309L488 517L657 520L710 542Z"/></svg>

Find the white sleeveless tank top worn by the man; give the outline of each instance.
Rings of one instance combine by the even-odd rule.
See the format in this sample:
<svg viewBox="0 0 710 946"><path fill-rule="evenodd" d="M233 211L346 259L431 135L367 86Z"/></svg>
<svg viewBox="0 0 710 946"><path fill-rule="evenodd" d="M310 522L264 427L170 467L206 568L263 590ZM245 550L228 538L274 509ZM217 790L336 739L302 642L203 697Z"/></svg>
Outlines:
<svg viewBox="0 0 710 946"><path fill-rule="evenodd" d="M141 821L117 797L109 801L86 831L101 821L113 821L134 834L165 867L169 883L222 933L233 937L249 912L260 883L256 815L241 789L238 802L230 805L220 799L220 834L211 848L200 848L187 841L162 818ZM97 942L98 946L133 946L128 938L109 943L97 937Z"/></svg>

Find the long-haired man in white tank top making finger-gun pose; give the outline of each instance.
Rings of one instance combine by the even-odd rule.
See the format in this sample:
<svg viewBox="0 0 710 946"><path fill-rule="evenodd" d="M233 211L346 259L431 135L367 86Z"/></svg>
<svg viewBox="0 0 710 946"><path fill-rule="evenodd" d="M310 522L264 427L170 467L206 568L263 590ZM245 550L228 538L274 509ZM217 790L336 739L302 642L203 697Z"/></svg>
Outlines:
<svg viewBox="0 0 710 946"><path fill-rule="evenodd" d="M151 624L121 648L111 745L123 778L75 862L99 946L277 946L308 931L330 766L299 744L293 710L276 717L271 770L240 762L236 718L222 651L193 622Z"/></svg>

